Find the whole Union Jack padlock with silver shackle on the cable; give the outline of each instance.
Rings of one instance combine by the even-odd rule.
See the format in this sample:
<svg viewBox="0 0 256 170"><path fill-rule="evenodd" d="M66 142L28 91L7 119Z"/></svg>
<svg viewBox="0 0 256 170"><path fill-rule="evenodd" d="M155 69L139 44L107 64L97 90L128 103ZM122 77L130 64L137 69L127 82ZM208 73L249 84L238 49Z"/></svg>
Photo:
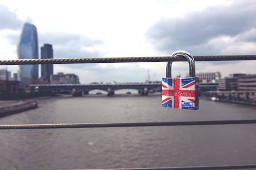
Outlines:
<svg viewBox="0 0 256 170"><path fill-rule="evenodd" d="M171 57L185 57L189 64L189 77L172 78L172 61L166 66L166 78L162 81L162 106L179 109L198 109L199 78L196 77L195 59L185 51L177 51Z"/></svg>

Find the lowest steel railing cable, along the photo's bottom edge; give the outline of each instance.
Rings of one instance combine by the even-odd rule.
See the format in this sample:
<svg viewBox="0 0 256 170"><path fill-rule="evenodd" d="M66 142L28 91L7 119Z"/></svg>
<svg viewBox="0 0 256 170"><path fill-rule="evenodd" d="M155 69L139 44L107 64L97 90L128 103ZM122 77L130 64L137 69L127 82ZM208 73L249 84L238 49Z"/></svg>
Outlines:
<svg viewBox="0 0 256 170"><path fill-rule="evenodd" d="M186 166L186 167L151 167L151 168L113 168L113 169L58 169L58 170L213 170L213 169L249 169L256 165L223 165L223 166Z"/></svg>

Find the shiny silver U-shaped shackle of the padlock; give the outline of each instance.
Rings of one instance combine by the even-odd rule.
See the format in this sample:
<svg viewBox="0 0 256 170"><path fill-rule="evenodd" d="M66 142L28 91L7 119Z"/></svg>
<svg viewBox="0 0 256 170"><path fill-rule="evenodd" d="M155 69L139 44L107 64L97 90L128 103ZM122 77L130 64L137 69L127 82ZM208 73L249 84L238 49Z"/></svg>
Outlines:
<svg viewBox="0 0 256 170"><path fill-rule="evenodd" d="M194 57L186 51L174 52L170 57L186 57L189 65L189 77L196 77L196 66ZM168 61L166 66L166 78L172 77L172 61Z"/></svg>

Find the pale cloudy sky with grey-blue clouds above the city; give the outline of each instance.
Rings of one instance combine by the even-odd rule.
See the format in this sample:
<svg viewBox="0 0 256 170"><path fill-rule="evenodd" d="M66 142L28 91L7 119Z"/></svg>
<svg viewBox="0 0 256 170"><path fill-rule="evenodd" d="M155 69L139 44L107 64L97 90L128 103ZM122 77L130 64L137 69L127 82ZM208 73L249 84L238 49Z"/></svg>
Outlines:
<svg viewBox="0 0 256 170"><path fill-rule="evenodd" d="M18 59L25 22L36 26L39 48L53 45L54 58L169 56L179 50L194 56L256 55L255 9L253 0L0 0L0 60ZM255 65L256 61L196 62L196 73L256 74ZM55 64L54 74L74 73L86 84L144 82L149 72L152 81L161 81L165 67L166 62ZM1 68L18 70L11 65ZM174 62L172 72L185 76L187 62Z"/></svg>

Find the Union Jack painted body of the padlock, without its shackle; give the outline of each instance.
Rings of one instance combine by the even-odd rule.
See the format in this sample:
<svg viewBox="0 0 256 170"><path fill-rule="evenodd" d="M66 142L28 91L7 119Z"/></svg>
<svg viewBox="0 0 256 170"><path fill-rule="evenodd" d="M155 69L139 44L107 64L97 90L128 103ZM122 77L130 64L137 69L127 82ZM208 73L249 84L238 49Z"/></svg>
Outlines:
<svg viewBox="0 0 256 170"><path fill-rule="evenodd" d="M198 109L199 78L163 78L162 106L179 109Z"/></svg>

